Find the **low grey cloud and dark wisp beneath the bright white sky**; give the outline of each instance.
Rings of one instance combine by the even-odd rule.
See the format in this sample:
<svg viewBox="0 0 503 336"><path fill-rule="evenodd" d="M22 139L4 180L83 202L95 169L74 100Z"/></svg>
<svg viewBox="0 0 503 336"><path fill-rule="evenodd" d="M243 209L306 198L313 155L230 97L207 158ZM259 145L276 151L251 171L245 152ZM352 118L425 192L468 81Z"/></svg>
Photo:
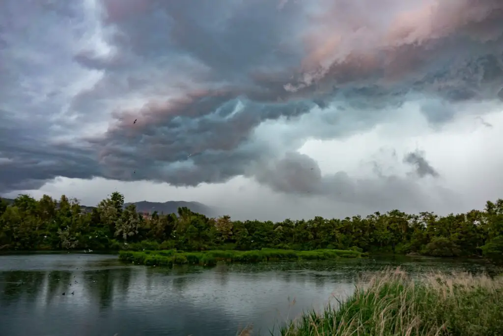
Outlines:
<svg viewBox="0 0 503 336"><path fill-rule="evenodd" d="M422 156L422 153L408 153L404 161L415 165L415 172L421 176L439 174ZM413 209L428 207L427 191L413 176L400 177L383 175L380 178L352 178L344 171L332 174L321 173L318 163L305 154L286 153L281 159L269 165L259 165L250 175L273 190L303 196L324 196L334 201L362 204L373 209L395 208ZM385 193L383 192L385 191ZM438 189L445 195L448 190Z"/></svg>

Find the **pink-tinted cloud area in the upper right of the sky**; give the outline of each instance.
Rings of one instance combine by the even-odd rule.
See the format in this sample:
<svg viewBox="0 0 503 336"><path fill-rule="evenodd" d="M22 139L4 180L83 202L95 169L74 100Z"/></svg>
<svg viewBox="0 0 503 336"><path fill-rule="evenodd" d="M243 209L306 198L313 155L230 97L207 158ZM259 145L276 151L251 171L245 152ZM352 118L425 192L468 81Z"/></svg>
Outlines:
<svg viewBox="0 0 503 336"><path fill-rule="evenodd" d="M287 85L290 91L341 73L364 76L384 69L386 79L397 79L429 59L418 54L418 46L457 33L488 40L502 32L502 24L495 23L503 22L503 1L322 0L321 4L323 11L310 14L303 40L304 84Z"/></svg>

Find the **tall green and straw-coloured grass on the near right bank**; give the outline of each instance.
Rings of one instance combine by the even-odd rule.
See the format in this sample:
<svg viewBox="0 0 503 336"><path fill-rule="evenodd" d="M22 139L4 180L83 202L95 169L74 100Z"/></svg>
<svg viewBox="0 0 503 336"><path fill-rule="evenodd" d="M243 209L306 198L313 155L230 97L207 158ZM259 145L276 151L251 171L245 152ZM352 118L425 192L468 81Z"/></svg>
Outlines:
<svg viewBox="0 0 503 336"><path fill-rule="evenodd" d="M383 271L340 306L306 312L282 336L503 335L503 277Z"/></svg>

